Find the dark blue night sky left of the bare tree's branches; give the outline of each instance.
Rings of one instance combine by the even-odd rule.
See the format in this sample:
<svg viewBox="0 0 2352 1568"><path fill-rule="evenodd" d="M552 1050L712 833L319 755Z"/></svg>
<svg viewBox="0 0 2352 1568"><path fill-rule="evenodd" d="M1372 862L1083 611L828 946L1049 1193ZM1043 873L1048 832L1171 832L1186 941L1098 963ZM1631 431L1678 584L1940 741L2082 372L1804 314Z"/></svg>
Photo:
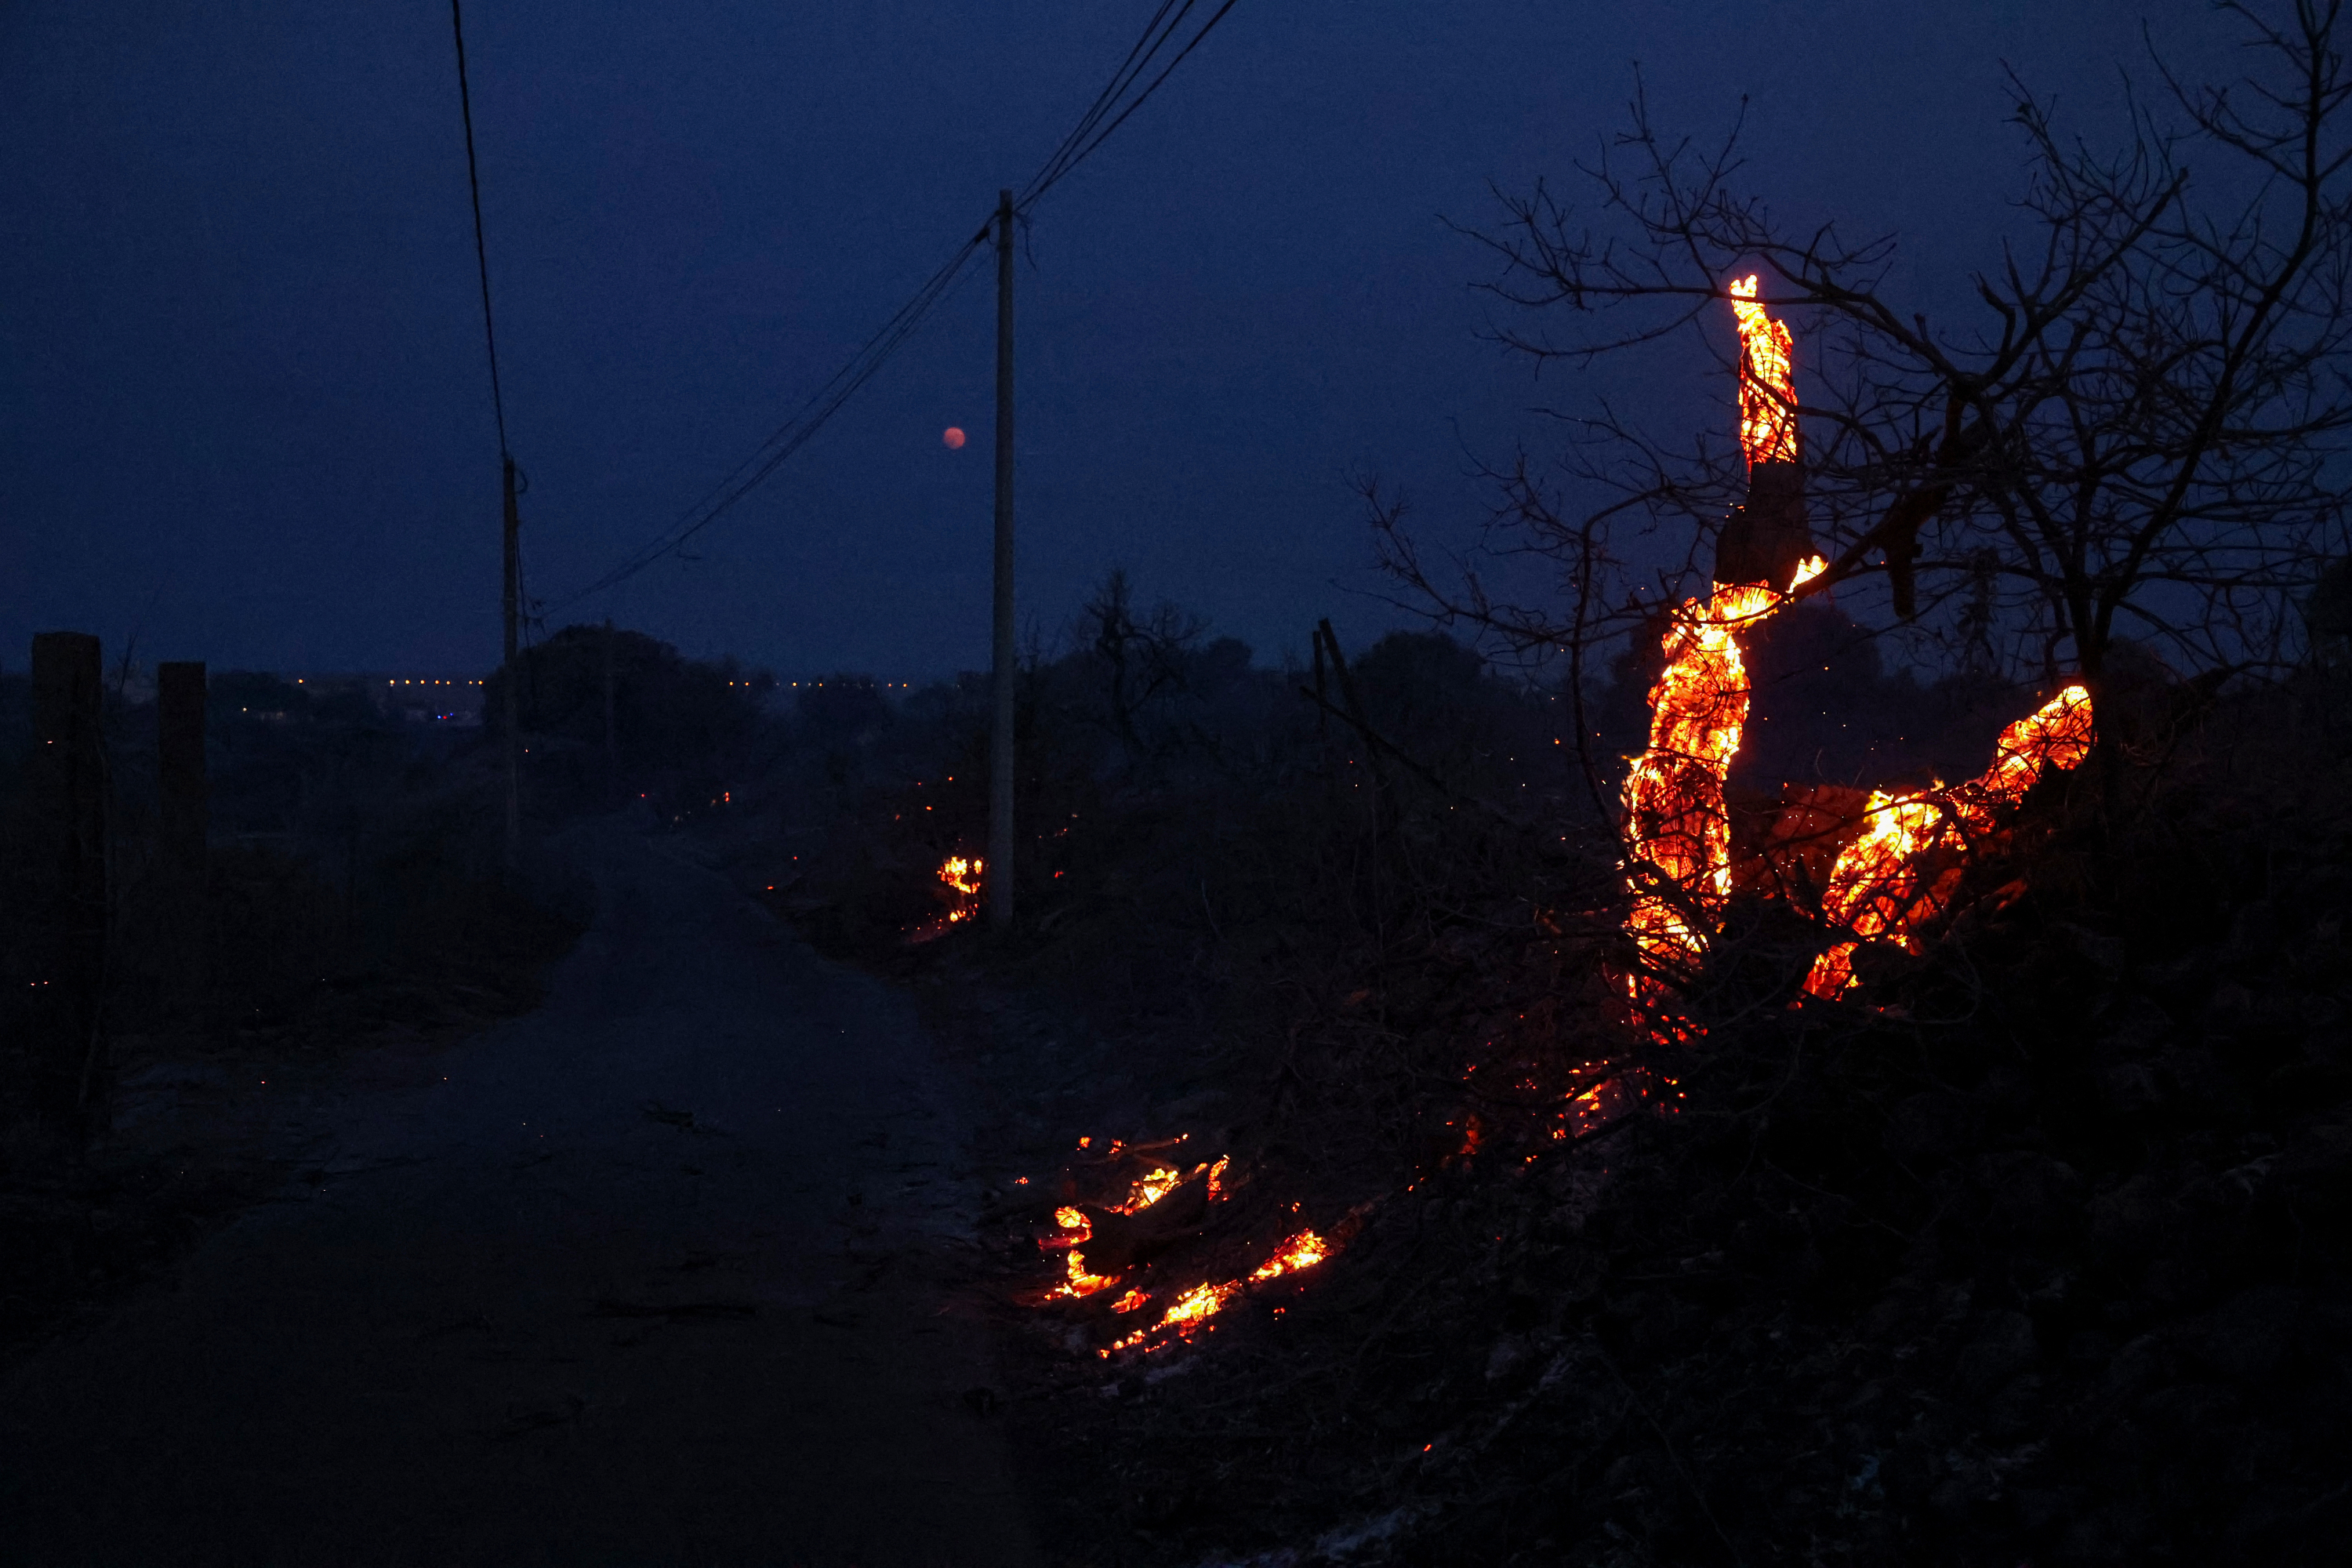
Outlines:
<svg viewBox="0 0 2352 1568"><path fill-rule="evenodd" d="M1444 216L1573 188L1635 61L1658 118L1750 108L1755 188L1990 256L2002 61L2093 141L2143 5L1242 0L1037 209L1021 289L1023 621L1127 564L1261 654L1376 588L1350 475L1468 538L1463 444L1625 386L1482 343ZM2171 5L2185 45L2204 7ZM1145 0L473 0L475 125L532 590L661 531L976 230ZM2190 31L2183 31L2190 28ZM442 0L0 7L0 663L480 670L496 437ZM988 661L985 268L746 505L572 614L889 679ZM1606 371L1623 376L1623 369ZM1639 390L1639 388L1637 388ZM1646 388L1653 402L1661 388ZM1729 386L1675 383L1729 423ZM962 451L946 425L974 433Z"/></svg>

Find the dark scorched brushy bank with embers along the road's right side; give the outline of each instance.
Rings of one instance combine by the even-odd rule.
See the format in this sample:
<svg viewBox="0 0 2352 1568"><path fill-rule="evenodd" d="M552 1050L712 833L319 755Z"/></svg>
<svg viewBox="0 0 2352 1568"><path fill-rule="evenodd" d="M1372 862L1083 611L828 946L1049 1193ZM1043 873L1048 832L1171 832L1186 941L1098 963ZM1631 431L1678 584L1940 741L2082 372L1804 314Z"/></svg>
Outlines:
<svg viewBox="0 0 2352 1568"><path fill-rule="evenodd" d="M2333 1486L2312 1479L2333 1439L2286 1436L2333 1429L2343 1392L2312 1375L2336 1265L2296 1262L2288 1215L2336 1234L2352 1211L2343 1088L2312 1077L2352 1067L2314 1023L2352 994L2317 914L2352 879L2244 827L2305 766L2279 750L2293 724L2164 719L2187 773L2112 870L2077 691L1971 698L1992 717L1952 724L1952 762L1877 797L1750 806L1729 750L1712 837L1684 839L1708 846L1684 863L1703 898L1677 900L1632 882L1618 823L1578 820L1562 705L1395 656L1350 663L1359 712L1461 769L1446 792L1352 719L1317 733L1312 705L1263 743L1296 771L1247 788L1181 750L1040 769L1033 924L906 950L877 919L863 950L903 966L983 1093L1002 1420L1061 1561L1305 1563L1319 1540L1715 1561L1708 1512L1745 1561L1853 1568L2303 1528L2249 1497ZM1750 726L1780 729L1776 693L1748 693ZM1040 712L1049 743L1117 736ZM1449 752L1458 715L1486 741ZM1557 771L1482 783L1479 757ZM1115 783L1056 795L1054 773ZM1522 795L1529 827L1472 804ZM915 813L877 802L887 844ZM1809 837L1776 839L1799 804ZM976 792L957 809L938 832L976 832ZM901 851L910 898L950 851ZM1651 886L1689 912L1656 964L1653 1011L1689 1025L1665 1039L1628 1018ZM1825 959L1842 985L1813 980ZM2206 1448L2206 1476L2169 1479ZM2223 1462L2241 1450L2284 1455L2270 1493Z"/></svg>

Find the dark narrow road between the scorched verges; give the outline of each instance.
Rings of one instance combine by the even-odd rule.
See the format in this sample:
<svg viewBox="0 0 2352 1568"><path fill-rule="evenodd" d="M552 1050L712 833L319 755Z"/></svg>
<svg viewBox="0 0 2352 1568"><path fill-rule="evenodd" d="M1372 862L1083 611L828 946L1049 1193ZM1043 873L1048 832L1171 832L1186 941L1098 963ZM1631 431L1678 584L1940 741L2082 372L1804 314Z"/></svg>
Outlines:
<svg viewBox="0 0 2352 1568"><path fill-rule="evenodd" d="M0 1561L1035 1561L927 1041L654 842L536 1013L0 1387Z"/></svg>

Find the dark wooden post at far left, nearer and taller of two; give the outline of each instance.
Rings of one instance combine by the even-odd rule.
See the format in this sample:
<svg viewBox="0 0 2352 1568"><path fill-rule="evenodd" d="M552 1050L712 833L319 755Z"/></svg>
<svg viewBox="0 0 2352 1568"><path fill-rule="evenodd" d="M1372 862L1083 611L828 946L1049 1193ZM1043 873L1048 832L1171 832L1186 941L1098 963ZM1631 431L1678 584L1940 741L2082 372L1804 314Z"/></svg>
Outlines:
<svg viewBox="0 0 2352 1568"><path fill-rule="evenodd" d="M106 750L99 731L99 639L33 637L33 1110L42 1126L87 1140L103 1126L106 1041Z"/></svg>

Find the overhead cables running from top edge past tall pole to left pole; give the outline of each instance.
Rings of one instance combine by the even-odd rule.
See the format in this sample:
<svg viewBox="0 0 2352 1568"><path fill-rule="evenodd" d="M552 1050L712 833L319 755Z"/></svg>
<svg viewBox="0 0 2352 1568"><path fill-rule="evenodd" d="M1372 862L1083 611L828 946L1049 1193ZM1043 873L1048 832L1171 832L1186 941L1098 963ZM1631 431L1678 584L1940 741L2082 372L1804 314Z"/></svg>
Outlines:
<svg viewBox="0 0 2352 1568"><path fill-rule="evenodd" d="M1033 174L1030 181L1021 188L1014 209L1025 219L1028 209L1040 197L1044 197L1047 190L1061 183L1080 162L1084 162L1098 146L1103 146L1103 141L1108 141L1110 134L1117 132L1120 125L1124 125L1127 118L1134 115L1136 108L1141 108L1143 101L1160 89L1160 85L1169 78L1169 73L1176 71L1176 66L1181 66L1183 59L1200 47L1200 42L1209 35L1209 31L1218 21L1223 21L1225 12L1230 12L1237 2L1240 0L1223 0L1223 5L1218 5L1218 9L1209 16L1209 21L1204 21L1183 42L1181 49L1176 49L1164 63L1160 63L1160 73L1152 75L1141 92L1134 92L1136 82L1143 80L1145 71L1152 68L1152 63L1162 56L1162 52L1167 52L1169 42L1183 31L1185 16L1190 16L1195 5L1200 5L1200 0L1160 0L1160 9L1152 12L1150 21L1143 26L1143 33L1136 38L1134 47L1129 47L1127 59L1120 61L1117 71L1110 73L1110 80L1087 106L1087 113L1080 115L1077 125L1070 127L1070 132L1054 146L1054 150L1040 165L1037 174ZM454 5L456 0L452 0L452 7ZM473 143L468 139L468 160L473 155L470 148ZM971 259L981 254L981 249L988 244L990 223L993 219L983 221L981 228L969 240L964 240L955 249L955 254L950 254L938 266L938 270L924 277L924 282L915 289L915 294L903 306L898 306L898 310L891 313L891 317L882 322L882 327L870 339L866 339L866 343L861 343L858 350L849 355L849 360L837 371L833 371L833 376L823 386L818 386L816 393L811 393L809 400L802 402L800 409L795 409L795 414L788 421L783 421L774 433L769 433L767 440L762 440L760 447L753 449L748 458L743 458L727 473L727 477L713 484L701 496L701 501L689 505L677 517L677 522L663 529L661 536L647 541L642 548L637 548L604 576L595 578L579 592L572 592L548 604L546 609L548 611L569 609L572 604L579 604L590 595L626 583L628 578L637 576L640 571L661 562L663 557L675 555L689 538L694 538L713 522L724 517L739 501L743 501L743 496L757 489L795 451L807 447L809 440L814 440L816 433L823 430L826 423L835 414L840 414L840 409L858 393L858 388L873 381L873 376L891 360L891 355L896 355L898 348L915 334L922 320L967 275L967 266L971 263ZM475 200L475 237L480 240L480 197ZM487 313L489 306L487 266L482 280L485 280L482 303ZM492 383L496 386L496 371L492 374Z"/></svg>

